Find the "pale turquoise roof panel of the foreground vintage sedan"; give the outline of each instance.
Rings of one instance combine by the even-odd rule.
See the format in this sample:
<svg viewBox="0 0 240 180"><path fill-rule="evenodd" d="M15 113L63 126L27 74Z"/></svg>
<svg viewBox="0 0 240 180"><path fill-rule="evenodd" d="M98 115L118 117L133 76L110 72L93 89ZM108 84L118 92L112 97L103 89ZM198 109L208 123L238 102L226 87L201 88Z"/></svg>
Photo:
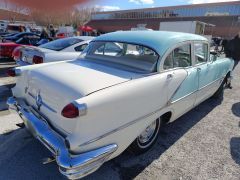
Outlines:
<svg viewBox="0 0 240 180"><path fill-rule="evenodd" d="M200 35L170 31L117 31L94 39L94 41L141 44L155 50L160 56L175 44L193 40L207 41L205 37Z"/></svg>

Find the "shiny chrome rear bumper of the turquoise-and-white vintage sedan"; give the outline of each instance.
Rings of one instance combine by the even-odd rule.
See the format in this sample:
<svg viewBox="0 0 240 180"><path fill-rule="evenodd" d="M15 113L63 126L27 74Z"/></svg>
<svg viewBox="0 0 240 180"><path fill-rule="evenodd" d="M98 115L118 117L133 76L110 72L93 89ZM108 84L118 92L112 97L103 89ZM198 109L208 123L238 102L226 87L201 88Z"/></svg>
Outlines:
<svg viewBox="0 0 240 180"><path fill-rule="evenodd" d="M25 103L20 103L20 100L18 102L16 98L10 97L7 104L9 110L19 114L33 136L55 155L59 171L69 179L78 179L96 171L117 149L116 144L111 144L72 155L69 153L63 137L53 131L43 118L33 114Z"/></svg>

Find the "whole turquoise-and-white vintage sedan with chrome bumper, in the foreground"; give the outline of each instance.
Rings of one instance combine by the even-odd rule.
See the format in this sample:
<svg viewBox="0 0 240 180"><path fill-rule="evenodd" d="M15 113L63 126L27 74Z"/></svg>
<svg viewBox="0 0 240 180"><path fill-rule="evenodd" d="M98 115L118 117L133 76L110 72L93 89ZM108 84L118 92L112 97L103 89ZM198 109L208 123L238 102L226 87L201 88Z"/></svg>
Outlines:
<svg viewBox="0 0 240 180"><path fill-rule="evenodd" d="M199 35L114 32L78 60L13 69L18 81L7 103L75 179L128 147L147 151L164 123L220 97L232 68L231 59L210 58Z"/></svg>

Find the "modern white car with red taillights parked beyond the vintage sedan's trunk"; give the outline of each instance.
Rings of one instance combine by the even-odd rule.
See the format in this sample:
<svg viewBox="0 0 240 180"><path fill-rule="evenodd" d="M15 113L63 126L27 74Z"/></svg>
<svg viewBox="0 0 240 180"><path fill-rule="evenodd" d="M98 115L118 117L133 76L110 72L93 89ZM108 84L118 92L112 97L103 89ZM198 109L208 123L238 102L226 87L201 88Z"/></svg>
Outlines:
<svg viewBox="0 0 240 180"><path fill-rule="evenodd" d="M51 41L38 47L24 46L17 49L20 52L14 53L17 54L14 59L20 66L73 60L81 54L93 39L94 37L91 36L76 36Z"/></svg>

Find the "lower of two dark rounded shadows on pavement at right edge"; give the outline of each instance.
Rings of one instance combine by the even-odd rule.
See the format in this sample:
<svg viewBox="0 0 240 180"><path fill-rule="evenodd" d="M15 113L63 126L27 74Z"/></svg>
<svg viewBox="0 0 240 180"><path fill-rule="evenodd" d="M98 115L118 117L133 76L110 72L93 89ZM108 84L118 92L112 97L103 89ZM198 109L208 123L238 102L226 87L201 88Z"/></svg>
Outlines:
<svg viewBox="0 0 240 180"><path fill-rule="evenodd" d="M233 137L230 141L232 159L240 165L240 137Z"/></svg>

